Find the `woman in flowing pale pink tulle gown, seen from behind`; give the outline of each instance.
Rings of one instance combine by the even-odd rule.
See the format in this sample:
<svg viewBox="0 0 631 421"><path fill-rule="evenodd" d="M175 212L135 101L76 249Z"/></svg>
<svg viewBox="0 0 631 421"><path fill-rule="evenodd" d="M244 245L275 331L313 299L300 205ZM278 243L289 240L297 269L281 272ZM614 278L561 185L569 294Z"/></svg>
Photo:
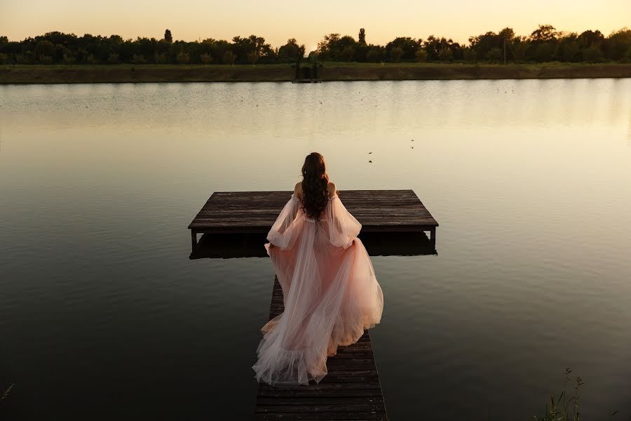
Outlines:
<svg viewBox="0 0 631 421"><path fill-rule="evenodd" d="M262 328L252 366L259 382L308 385L327 374L327 356L359 340L381 320L384 295L364 245L361 224L329 182L313 152L271 227L265 245L283 288L285 312Z"/></svg>

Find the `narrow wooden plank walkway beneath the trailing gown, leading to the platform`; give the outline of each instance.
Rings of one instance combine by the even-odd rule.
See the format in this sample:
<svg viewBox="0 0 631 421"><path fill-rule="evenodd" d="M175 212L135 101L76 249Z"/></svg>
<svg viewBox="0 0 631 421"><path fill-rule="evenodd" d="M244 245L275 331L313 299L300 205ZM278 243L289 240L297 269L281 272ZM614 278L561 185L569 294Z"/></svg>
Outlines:
<svg viewBox="0 0 631 421"><path fill-rule="evenodd" d="M283 312L283 290L274 280L269 318ZM319 384L271 387L259 384L255 420L388 420L368 331L327 359Z"/></svg>

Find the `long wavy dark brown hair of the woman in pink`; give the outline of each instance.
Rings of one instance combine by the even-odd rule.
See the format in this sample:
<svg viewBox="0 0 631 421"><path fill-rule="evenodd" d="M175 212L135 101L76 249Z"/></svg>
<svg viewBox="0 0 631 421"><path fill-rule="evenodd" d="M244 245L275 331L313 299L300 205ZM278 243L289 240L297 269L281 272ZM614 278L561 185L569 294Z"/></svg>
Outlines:
<svg viewBox="0 0 631 421"><path fill-rule="evenodd" d="M318 218L327 206L329 176L324 156L311 152L302 166L302 208L307 218Z"/></svg>

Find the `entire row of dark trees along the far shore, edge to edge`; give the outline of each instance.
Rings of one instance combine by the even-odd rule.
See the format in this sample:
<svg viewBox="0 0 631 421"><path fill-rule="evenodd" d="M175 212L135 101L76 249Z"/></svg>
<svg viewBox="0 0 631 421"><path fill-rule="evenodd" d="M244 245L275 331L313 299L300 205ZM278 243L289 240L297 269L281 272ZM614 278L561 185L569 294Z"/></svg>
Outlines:
<svg viewBox="0 0 631 421"><path fill-rule="evenodd" d="M163 39L123 39L118 35L47 34L9 41L0 36L0 64L229 64L297 62L305 47L296 39L272 48L261 36L235 36L232 41L173 41L170 30ZM559 32L539 25L528 36L513 29L471 36L467 45L452 39L398 37L385 46L367 44L366 32L353 36L328 34L310 60L337 62L631 62L631 30L604 36L599 31Z"/></svg>

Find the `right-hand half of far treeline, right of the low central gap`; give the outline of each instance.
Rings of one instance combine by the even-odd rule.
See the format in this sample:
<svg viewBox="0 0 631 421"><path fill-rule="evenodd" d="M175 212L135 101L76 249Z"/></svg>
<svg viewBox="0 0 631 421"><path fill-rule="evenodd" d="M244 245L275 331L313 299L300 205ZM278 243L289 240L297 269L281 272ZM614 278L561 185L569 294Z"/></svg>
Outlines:
<svg viewBox="0 0 631 421"><path fill-rule="evenodd" d="M559 32L539 25L529 36L513 29L487 32L469 38L468 45L430 35L427 39L399 37L385 46L367 44L365 31L358 40L329 34L318 44L321 60L356 62L630 62L631 30L609 36L600 31Z"/></svg>

